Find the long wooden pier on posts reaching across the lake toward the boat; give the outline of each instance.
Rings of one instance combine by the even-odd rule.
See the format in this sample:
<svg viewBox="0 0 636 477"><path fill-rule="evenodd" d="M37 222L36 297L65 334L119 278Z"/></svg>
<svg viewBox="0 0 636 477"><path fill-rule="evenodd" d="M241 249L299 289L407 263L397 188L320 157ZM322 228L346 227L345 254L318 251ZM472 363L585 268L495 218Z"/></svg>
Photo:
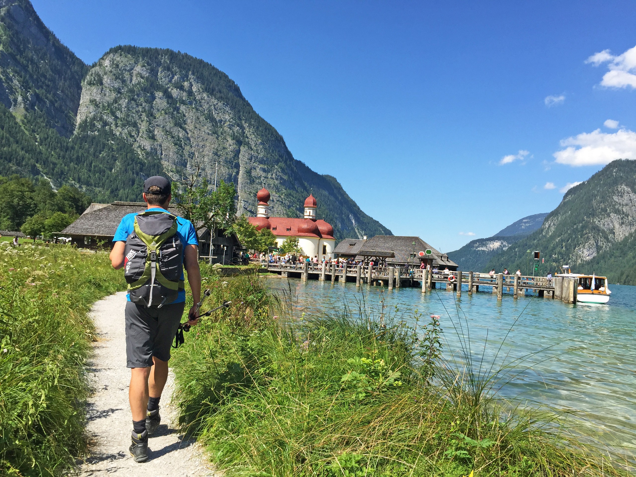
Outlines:
<svg viewBox="0 0 636 477"><path fill-rule="evenodd" d="M491 276L488 273L457 272L443 273L406 268L401 266L373 266L344 265L335 263L263 263L267 270L278 273L283 277L331 280L344 285L345 282L356 282L356 286L368 284L370 286L386 286L389 289L399 287L420 287L422 293L429 293L432 289L441 288L446 291L472 294L488 289L497 294L501 300L504 295L523 296L527 292L536 292L538 296L558 298L565 303L576 303L577 282L574 278L530 277L527 275L504 275L498 273ZM461 284L461 286L460 286ZM464 285L466 287L464 287ZM506 293L507 292L507 293Z"/></svg>

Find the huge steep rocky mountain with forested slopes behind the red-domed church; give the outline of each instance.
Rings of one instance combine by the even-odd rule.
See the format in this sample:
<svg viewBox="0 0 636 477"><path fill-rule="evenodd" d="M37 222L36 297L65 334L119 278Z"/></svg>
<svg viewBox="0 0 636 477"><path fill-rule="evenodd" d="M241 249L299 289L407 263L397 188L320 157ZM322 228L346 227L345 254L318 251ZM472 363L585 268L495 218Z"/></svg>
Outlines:
<svg viewBox="0 0 636 477"><path fill-rule="evenodd" d="M44 176L93 200L138 200L144 179L200 170L237 186L239 213L302 217L310 192L338 239L391 235L335 177L294 159L225 73L186 53L116 46L86 66L28 0L0 0L0 174ZM218 163L218 174L217 174Z"/></svg>

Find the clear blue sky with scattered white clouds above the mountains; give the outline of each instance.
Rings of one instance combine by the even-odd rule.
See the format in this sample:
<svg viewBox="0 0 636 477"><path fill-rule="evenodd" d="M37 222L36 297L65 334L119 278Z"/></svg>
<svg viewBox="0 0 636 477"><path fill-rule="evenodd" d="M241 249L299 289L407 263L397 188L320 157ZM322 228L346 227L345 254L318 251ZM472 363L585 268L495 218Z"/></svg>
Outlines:
<svg viewBox="0 0 636 477"><path fill-rule="evenodd" d="M33 4L88 63L121 44L211 62L296 159L445 252L636 158L633 1Z"/></svg>

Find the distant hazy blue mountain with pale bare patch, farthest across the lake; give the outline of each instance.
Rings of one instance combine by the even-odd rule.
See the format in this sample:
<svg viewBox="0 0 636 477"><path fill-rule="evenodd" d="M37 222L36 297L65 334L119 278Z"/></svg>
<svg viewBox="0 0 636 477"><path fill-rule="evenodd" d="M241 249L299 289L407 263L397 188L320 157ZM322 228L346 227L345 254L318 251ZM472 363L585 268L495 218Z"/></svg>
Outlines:
<svg viewBox="0 0 636 477"><path fill-rule="evenodd" d="M525 235L537 230L546 216L548 216L547 213L534 214L519 219L495 233L492 237L471 240L462 248L454 252L448 252L448 258L459 265L459 270L486 272L486 266L490 259L499 252L507 250L510 245L521 240Z"/></svg>

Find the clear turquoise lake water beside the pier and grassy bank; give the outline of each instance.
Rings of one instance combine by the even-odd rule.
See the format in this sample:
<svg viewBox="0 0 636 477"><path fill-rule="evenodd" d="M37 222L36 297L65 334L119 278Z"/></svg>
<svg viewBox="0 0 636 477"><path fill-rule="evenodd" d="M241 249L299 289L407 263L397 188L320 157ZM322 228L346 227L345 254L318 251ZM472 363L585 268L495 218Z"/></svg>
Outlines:
<svg viewBox="0 0 636 477"><path fill-rule="evenodd" d="M421 313L440 315L445 354L459 349L458 336L469 336L471 355L497 364L530 355L517 366L518 376L499 393L561 411L576 411L577 433L611 446L620 453L636 450L636 287L610 286L609 305L567 305L551 298L525 296L517 300L504 294L466 291L457 299L445 290L423 294L419 288L384 287L298 279L272 279L274 289L293 291L297 313L307 315L342 311L357 303L378 312L394 312L413 322ZM461 317L461 320L458 319ZM516 320L516 322L515 322ZM460 326L464 331L459 330ZM507 335L507 336L506 336ZM505 339L505 341L504 341ZM528 368L524 370L524 368Z"/></svg>

